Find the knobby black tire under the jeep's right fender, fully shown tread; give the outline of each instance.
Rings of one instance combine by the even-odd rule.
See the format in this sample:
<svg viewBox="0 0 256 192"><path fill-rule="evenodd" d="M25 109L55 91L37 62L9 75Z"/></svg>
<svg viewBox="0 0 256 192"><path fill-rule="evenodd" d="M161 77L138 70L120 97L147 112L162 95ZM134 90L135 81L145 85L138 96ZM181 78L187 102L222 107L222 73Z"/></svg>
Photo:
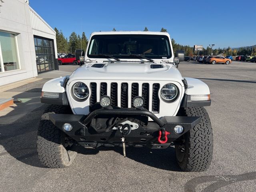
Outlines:
<svg viewBox="0 0 256 192"><path fill-rule="evenodd" d="M200 122L186 132L175 145L176 159L180 168L188 172L207 170L213 153L212 126L203 107L180 108L177 116L200 116Z"/></svg>

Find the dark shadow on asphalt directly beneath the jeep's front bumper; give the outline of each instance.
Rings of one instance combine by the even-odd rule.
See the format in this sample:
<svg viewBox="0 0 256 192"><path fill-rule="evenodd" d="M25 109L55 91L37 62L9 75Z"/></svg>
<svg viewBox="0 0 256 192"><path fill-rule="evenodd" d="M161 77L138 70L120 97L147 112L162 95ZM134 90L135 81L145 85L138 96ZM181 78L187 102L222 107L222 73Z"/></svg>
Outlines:
<svg viewBox="0 0 256 192"><path fill-rule="evenodd" d="M99 151L115 151L120 155L123 155L123 150L121 147L101 146L96 149L78 147L78 153L84 154L84 155L97 154ZM166 149L127 147L126 158L130 158L136 162L140 162L142 164L145 164L154 168L181 172L176 162L174 147L168 147Z"/></svg>

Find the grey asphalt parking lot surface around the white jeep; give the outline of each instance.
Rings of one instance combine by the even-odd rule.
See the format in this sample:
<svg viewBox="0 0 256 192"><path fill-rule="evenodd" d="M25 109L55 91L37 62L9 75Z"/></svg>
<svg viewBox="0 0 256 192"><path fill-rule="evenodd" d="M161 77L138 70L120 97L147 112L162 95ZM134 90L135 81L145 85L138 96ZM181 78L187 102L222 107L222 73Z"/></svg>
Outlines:
<svg viewBox="0 0 256 192"><path fill-rule="evenodd" d="M76 67L63 65L60 71L71 73ZM79 148L70 167L44 168L36 153L38 122L46 108L42 104L9 124L2 124L0 117L0 191L255 192L256 63L190 61L180 63L179 70L210 87L212 105L206 109L214 131L214 156L209 170L181 172L172 147L127 148L127 158L121 148ZM8 91L33 90L38 102L46 80Z"/></svg>

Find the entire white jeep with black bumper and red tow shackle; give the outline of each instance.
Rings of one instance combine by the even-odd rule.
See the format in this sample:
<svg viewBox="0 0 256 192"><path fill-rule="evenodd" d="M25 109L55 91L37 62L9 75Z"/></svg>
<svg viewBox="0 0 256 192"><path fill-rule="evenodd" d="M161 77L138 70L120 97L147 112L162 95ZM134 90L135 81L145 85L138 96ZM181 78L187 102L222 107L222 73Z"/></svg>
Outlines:
<svg viewBox="0 0 256 192"><path fill-rule="evenodd" d="M175 146L184 171L204 171L212 160L213 135L204 106L208 86L184 78L176 68L166 32L94 32L82 66L46 82L41 102L51 104L38 128L42 164L72 164L85 148ZM165 152L163 150L163 152ZM107 158L107 157L106 157ZM168 160L166 160L168 161Z"/></svg>

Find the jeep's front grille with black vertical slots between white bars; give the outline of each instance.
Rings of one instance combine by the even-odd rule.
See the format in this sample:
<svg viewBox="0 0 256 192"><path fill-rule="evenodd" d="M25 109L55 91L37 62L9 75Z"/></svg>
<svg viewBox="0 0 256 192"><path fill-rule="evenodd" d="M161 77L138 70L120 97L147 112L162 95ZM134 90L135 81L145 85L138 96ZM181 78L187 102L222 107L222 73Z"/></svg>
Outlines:
<svg viewBox="0 0 256 192"><path fill-rule="evenodd" d="M98 92L97 92L97 89ZM144 98L144 108L151 110L152 112L159 112L160 100L158 97L158 91L160 84L154 83L90 83L90 106L95 104L100 97L104 95L110 96L112 104L121 108L133 107L132 101L136 96L142 96ZM99 94L99 95L97 95ZM130 95L130 96L129 96Z"/></svg>

